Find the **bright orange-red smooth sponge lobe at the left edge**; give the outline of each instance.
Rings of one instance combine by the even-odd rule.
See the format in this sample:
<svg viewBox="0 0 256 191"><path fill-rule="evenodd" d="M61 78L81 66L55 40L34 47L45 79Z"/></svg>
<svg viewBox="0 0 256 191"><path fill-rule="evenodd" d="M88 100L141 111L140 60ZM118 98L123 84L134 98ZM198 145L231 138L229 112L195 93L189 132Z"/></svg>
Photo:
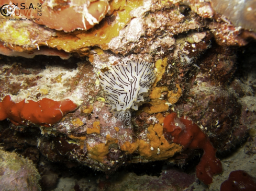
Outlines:
<svg viewBox="0 0 256 191"><path fill-rule="evenodd" d="M76 104L71 100L53 101L43 98L38 102L23 100L15 103L10 100L10 95L7 95L0 102L0 121L9 118L14 125L26 125L26 122L31 122L50 127L76 108Z"/></svg>

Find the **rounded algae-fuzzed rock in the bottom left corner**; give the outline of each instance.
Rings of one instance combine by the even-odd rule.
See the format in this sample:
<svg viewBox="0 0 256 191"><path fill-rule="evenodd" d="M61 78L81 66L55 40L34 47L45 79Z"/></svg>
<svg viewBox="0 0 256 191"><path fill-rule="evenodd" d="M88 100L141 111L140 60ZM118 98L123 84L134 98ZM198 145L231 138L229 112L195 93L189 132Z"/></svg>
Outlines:
<svg viewBox="0 0 256 191"><path fill-rule="evenodd" d="M0 190L41 190L40 175L32 161L0 148Z"/></svg>

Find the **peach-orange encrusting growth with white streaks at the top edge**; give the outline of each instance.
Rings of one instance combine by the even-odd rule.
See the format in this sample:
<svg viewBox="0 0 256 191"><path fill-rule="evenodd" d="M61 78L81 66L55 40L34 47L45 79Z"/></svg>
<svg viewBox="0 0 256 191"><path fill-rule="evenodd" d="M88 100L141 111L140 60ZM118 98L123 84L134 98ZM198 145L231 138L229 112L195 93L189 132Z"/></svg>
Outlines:
<svg viewBox="0 0 256 191"><path fill-rule="evenodd" d="M110 9L107 0L18 0L15 4L21 8L16 10L16 16L26 17L27 19L34 20L39 25L65 32L74 31L75 29L88 30L92 28L105 17ZM23 10L23 7L26 7L27 10Z"/></svg>

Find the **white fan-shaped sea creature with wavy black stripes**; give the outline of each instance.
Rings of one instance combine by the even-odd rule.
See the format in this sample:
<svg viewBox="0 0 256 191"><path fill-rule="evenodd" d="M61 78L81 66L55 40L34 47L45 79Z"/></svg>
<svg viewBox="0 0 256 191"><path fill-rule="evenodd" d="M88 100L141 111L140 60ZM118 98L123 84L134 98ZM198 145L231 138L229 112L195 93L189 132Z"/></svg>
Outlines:
<svg viewBox="0 0 256 191"><path fill-rule="evenodd" d="M138 110L155 80L153 66L141 59L131 59L102 70L99 81L112 111Z"/></svg>

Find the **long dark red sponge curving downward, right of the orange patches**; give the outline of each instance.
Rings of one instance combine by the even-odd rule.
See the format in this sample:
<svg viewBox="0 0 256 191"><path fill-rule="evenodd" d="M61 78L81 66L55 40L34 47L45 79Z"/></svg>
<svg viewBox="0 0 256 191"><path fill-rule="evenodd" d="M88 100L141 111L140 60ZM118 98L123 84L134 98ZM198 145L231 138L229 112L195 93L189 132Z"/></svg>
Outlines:
<svg viewBox="0 0 256 191"><path fill-rule="evenodd" d="M215 157L216 149L210 143L207 135L193 124L190 118L178 118L176 113L171 113L164 118L164 136L166 139L183 145L189 149L203 149L204 154L196 166L196 176L205 184L213 182L213 175L222 172L222 165Z"/></svg>

